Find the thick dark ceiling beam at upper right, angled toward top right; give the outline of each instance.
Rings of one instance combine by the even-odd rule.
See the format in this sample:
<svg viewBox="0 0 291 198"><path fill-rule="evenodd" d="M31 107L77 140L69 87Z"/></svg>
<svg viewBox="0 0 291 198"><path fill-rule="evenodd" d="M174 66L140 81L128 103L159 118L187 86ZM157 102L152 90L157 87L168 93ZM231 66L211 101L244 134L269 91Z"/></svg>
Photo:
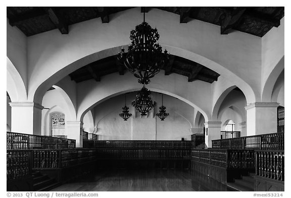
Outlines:
<svg viewBox="0 0 291 198"><path fill-rule="evenodd" d="M220 33L228 34L240 22L246 9L245 7L234 7L231 13L226 12L224 19L221 21Z"/></svg>

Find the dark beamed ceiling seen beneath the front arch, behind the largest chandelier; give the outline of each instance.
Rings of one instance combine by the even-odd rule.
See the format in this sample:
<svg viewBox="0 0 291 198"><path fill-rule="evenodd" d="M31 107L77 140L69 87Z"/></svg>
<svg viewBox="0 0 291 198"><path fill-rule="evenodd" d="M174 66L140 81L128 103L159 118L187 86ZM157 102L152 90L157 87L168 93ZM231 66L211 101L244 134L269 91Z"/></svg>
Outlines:
<svg viewBox="0 0 291 198"><path fill-rule="evenodd" d="M217 78L220 76L216 72L197 62L175 55L170 55L170 61L164 66L163 70L165 75L176 73L186 76L188 77L188 82L201 80L208 83L213 83L214 81L217 81ZM90 79L94 79L99 82L102 80L102 76L115 72L118 72L119 75L124 75L124 72L126 71L126 68L118 63L117 55L114 55L87 64L84 67L72 72L69 76L71 77L71 80L76 83Z"/></svg>

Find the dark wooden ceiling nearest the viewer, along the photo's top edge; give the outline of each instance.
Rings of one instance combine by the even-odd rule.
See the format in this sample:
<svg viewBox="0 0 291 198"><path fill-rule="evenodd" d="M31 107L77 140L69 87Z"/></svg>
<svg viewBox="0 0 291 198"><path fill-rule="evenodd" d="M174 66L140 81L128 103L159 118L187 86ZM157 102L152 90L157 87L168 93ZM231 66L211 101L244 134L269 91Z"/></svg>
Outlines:
<svg viewBox="0 0 291 198"><path fill-rule="evenodd" d="M110 23L110 15L133 7L7 7L7 18L26 36L59 29L69 34L69 25L101 18ZM201 20L221 26L221 34L233 30L264 36L271 28L280 25L284 7L146 7L180 15L180 23ZM143 9L141 9L143 12Z"/></svg>

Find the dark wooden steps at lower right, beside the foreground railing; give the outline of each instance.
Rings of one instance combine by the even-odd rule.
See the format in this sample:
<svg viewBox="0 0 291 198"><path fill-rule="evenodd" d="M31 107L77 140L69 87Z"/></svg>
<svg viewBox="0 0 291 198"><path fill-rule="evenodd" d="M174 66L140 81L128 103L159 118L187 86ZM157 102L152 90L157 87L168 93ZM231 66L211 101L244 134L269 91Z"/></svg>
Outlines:
<svg viewBox="0 0 291 198"><path fill-rule="evenodd" d="M239 179L234 179L234 182L227 182L229 187L232 187L238 191L254 191L255 190L255 173L249 173L249 175L241 176Z"/></svg>

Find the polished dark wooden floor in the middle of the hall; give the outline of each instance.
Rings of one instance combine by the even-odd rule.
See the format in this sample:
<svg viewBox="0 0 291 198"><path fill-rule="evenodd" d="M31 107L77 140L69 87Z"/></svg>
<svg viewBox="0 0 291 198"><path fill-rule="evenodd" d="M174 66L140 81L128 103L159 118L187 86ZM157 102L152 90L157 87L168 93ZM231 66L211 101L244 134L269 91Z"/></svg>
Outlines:
<svg viewBox="0 0 291 198"><path fill-rule="evenodd" d="M103 170L52 191L233 191L191 170Z"/></svg>

